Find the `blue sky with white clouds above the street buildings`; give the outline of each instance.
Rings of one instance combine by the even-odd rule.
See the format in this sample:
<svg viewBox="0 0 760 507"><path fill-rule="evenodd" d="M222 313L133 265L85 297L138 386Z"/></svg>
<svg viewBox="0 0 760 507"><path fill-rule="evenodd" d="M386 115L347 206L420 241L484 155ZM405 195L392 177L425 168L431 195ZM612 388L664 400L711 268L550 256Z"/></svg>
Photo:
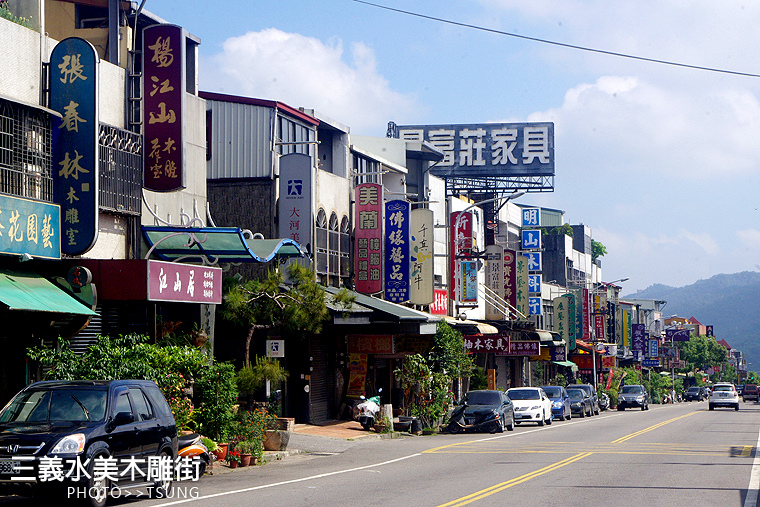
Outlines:
<svg viewBox="0 0 760 507"><path fill-rule="evenodd" d="M760 73L760 4L375 0L564 44ZM624 293L760 270L760 78L558 47L353 0L148 0L201 38L201 89L398 124L552 121L555 191Z"/></svg>

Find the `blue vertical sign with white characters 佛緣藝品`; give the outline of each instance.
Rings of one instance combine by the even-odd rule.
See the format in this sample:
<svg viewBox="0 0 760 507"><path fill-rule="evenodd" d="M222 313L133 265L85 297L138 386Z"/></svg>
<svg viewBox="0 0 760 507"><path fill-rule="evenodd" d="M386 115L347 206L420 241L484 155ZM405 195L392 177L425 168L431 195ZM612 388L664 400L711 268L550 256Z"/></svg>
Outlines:
<svg viewBox="0 0 760 507"><path fill-rule="evenodd" d="M385 299L409 300L409 203L385 203Z"/></svg>

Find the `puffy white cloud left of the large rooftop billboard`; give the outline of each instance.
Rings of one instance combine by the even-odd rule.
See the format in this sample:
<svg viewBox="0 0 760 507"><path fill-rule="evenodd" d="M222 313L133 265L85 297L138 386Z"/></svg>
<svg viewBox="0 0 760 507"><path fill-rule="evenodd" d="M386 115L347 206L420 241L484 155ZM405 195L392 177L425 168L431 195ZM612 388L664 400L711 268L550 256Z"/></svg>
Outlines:
<svg viewBox="0 0 760 507"><path fill-rule="evenodd" d="M354 133L383 135L364 131L420 109L413 95L392 89L377 71L374 51L362 43L344 55L338 39L325 43L269 28L227 39L204 63L212 66L203 74L204 90L316 109Z"/></svg>

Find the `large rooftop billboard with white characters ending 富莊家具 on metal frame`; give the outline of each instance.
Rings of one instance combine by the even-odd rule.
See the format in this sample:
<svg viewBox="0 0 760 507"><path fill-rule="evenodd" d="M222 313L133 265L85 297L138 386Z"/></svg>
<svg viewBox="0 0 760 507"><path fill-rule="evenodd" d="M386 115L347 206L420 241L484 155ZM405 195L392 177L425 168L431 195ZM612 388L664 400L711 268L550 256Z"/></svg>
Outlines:
<svg viewBox="0 0 760 507"><path fill-rule="evenodd" d="M553 123L409 125L399 126L398 133L443 152L430 170L436 176L554 176Z"/></svg>

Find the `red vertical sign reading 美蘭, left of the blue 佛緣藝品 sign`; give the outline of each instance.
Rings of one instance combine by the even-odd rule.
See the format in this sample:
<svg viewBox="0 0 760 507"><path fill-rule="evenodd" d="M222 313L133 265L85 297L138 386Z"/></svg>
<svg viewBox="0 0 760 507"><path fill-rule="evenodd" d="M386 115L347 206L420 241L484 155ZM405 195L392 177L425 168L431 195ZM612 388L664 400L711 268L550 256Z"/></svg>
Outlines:
<svg viewBox="0 0 760 507"><path fill-rule="evenodd" d="M356 187L356 291L383 290L383 187Z"/></svg>

